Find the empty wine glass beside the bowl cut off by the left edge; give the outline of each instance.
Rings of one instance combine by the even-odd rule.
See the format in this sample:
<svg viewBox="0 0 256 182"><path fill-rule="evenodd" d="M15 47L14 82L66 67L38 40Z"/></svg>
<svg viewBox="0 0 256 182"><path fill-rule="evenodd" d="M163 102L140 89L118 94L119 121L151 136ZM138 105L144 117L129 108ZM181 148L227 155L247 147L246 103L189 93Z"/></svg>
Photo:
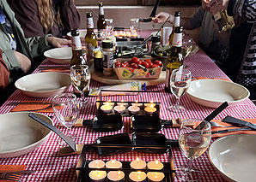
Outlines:
<svg viewBox="0 0 256 182"><path fill-rule="evenodd" d="M75 124L79 114L79 104L76 96L72 93L56 95L52 99L52 109L58 121L68 129L67 136L76 139L71 132L71 127ZM64 146L64 141L59 139L58 144Z"/></svg>

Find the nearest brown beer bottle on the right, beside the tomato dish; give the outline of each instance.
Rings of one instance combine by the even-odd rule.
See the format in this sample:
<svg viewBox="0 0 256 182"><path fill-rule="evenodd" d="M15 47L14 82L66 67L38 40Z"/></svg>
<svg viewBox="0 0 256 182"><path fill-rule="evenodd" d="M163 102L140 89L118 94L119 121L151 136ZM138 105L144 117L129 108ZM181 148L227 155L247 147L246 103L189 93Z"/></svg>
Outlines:
<svg viewBox="0 0 256 182"><path fill-rule="evenodd" d="M183 65L183 56L181 54L182 47L182 26L176 26L174 29L174 39L172 43L172 51L168 56L168 64L166 68L165 91L171 92L170 77L174 69Z"/></svg>

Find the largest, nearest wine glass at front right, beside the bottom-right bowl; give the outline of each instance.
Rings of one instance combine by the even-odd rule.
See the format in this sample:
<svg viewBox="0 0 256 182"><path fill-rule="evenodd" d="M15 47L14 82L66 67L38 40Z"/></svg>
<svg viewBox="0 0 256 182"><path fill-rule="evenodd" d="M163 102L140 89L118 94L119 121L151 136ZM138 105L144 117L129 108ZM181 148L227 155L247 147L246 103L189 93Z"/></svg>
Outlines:
<svg viewBox="0 0 256 182"><path fill-rule="evenodd" d="M204 127L193 129L186 124L191 122L204 122ZM175 175L183 181L198 181L203 173L192 168L192 160L201 156L209 147L211 138L210 122L206 120L188 119L180 126L179 146L182 153L188 159L186 167L178 167Z"/></svg>

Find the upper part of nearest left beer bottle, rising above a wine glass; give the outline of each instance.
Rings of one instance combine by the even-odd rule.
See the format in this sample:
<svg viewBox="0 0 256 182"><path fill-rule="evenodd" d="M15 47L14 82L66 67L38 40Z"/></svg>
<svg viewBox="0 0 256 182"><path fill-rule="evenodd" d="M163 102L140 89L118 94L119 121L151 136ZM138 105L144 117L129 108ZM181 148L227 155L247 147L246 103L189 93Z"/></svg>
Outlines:
<svg viewBox="0 0 256 182"><path fill-rule="evenodd" d="M82 56L82 44L81 39L79 36L78 29L71 30L71 36L72 36L72 58L70 60L70 67L73 65L80 65L85 64L86 62L84 60L81 60Z"/></svg>

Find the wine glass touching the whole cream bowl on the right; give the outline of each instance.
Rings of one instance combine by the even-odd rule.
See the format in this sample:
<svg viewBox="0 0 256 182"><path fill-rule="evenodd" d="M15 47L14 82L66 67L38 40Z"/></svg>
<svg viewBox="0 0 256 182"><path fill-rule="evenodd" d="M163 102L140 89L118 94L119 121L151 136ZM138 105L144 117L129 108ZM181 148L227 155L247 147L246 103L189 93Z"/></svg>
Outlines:
<svg viewBox="0 0 256 182"><path fill-rule="evenodd" d="M169 110L172 112L182 113L186 109L180 105L180 97L186 93L191 83L191 72L187 69L174 69L171 78L170 86L171 91L176 97L176 103L169 106Z"/></svg>

